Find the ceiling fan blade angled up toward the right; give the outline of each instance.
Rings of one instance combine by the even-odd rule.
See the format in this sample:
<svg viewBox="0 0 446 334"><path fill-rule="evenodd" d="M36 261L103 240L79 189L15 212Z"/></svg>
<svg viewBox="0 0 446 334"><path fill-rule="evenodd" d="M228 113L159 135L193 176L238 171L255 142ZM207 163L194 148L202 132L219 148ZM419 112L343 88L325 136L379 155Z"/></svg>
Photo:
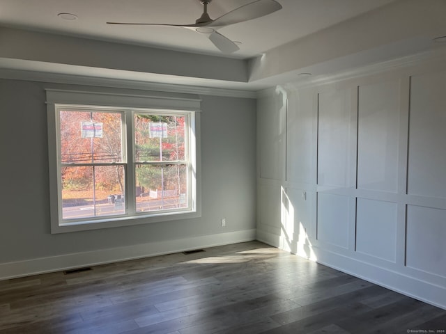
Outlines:
<svg viewBox="0 0 446 334"><path fill-rule="evenodd" d="M280 9L282 9L282 5L275 0L256 0L245 6L231 10L231 12L213 20L207 26L227 26L229 24L245 22L249 19L256 19L257 17L274 13Z"/></svg>

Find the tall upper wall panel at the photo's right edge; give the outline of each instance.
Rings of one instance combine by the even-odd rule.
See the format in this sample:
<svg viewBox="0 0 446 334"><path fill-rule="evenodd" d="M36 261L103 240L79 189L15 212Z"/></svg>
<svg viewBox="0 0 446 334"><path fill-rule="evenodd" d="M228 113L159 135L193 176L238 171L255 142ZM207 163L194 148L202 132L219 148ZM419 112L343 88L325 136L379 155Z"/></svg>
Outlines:
<svg viewBox="0 0 446 334"><path fill-rule="evenodd" d="M446 72L411 78L408 193L446 198Z"/></svg>

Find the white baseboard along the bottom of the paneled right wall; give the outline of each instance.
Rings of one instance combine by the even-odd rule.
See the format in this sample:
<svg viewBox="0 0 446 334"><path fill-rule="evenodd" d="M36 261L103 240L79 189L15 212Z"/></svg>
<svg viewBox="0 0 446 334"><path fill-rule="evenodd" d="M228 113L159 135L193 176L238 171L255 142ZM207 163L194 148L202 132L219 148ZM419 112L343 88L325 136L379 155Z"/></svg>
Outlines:
<svg viewBox="0 0 446 334"><path fill-rule="evenodd" d="M257 230L257 239L271 246L289 251L290 243L288 241L284 243L283 237L278 235ZM291 241L291 244L293 244L293 241ZM320 264L446 310L445 286L435 285L408 276L405 273L378 267L353 257L332 253L323 248L312 248L312 250L314 251L314 260Z"/></svg>

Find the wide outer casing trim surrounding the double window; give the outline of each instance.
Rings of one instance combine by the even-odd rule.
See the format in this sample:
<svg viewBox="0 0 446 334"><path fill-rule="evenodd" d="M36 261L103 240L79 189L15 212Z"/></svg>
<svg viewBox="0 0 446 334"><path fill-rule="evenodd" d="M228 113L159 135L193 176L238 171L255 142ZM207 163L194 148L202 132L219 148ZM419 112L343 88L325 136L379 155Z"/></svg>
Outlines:
<svg viewBox="0 0 446 334"><path fill-rule="evenodd" d="M200 104L201 100L197 95L185 95L174 93L153 93L153 95L132 95L116 94L109 92L86 92L79 90L54 90L45 89L47 95L47 131L48 131L48 149L49 149L49 205L52 234L63 232L76 232L84 230L98 230L102 228L116 228L129 225L140 225L164 221L178 221L183 219L198 218L201 216L201 145L200 145ZM176 111L193 111L191 121L192 134L195 136L195 148L192 150L191 161L194 161L195 186L192 186L194 193L194 210L187 212L157 212L147 214L134 214L132 216L117 216L107 218L95 218L89 221L73 221L72 223L59 222L59 177L58 177L58 154L59 143L56 125L57 113L56 104L72 104L84 106L111 106L122 107L123 109L160 109ZM125 117L129 113L125 113ZM125 120L128 122L128 119ZM128 125L129 126L129 125ZM130 140L132 134L128 129L127 140ZM191 135L192 135L191 134ZM132 159L130 159L132 160ZM129 168L132 168L130 161L127 161ZM132 182L132 180L128 180Z"/></svg>

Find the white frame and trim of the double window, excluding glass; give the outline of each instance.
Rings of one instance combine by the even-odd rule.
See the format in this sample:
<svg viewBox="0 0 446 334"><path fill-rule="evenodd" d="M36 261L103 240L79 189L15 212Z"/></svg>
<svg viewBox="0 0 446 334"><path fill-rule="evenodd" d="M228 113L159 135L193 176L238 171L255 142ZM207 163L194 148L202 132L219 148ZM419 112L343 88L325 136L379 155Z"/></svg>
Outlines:
<svg viewBox="0 0 446 334"><path fill-rule="evenodd" d="M47 89L47 124L49 148L49 203L51 232L75 232L114 228L128 225L174 221L201 216L201 173L200 173L200 100L197 95L162 94L125 95L115 93L95 93L72 90ZM61 157L59 110L91 107L93 111L121 111L123 113L123 164L126 165L126 214L97 218L63 220L61 201ZM190 177L188 186L190 202L187 209L159 212L136 212L134 157L134 113L171 114L184 113L190 121L188 152Z"/></svg>

